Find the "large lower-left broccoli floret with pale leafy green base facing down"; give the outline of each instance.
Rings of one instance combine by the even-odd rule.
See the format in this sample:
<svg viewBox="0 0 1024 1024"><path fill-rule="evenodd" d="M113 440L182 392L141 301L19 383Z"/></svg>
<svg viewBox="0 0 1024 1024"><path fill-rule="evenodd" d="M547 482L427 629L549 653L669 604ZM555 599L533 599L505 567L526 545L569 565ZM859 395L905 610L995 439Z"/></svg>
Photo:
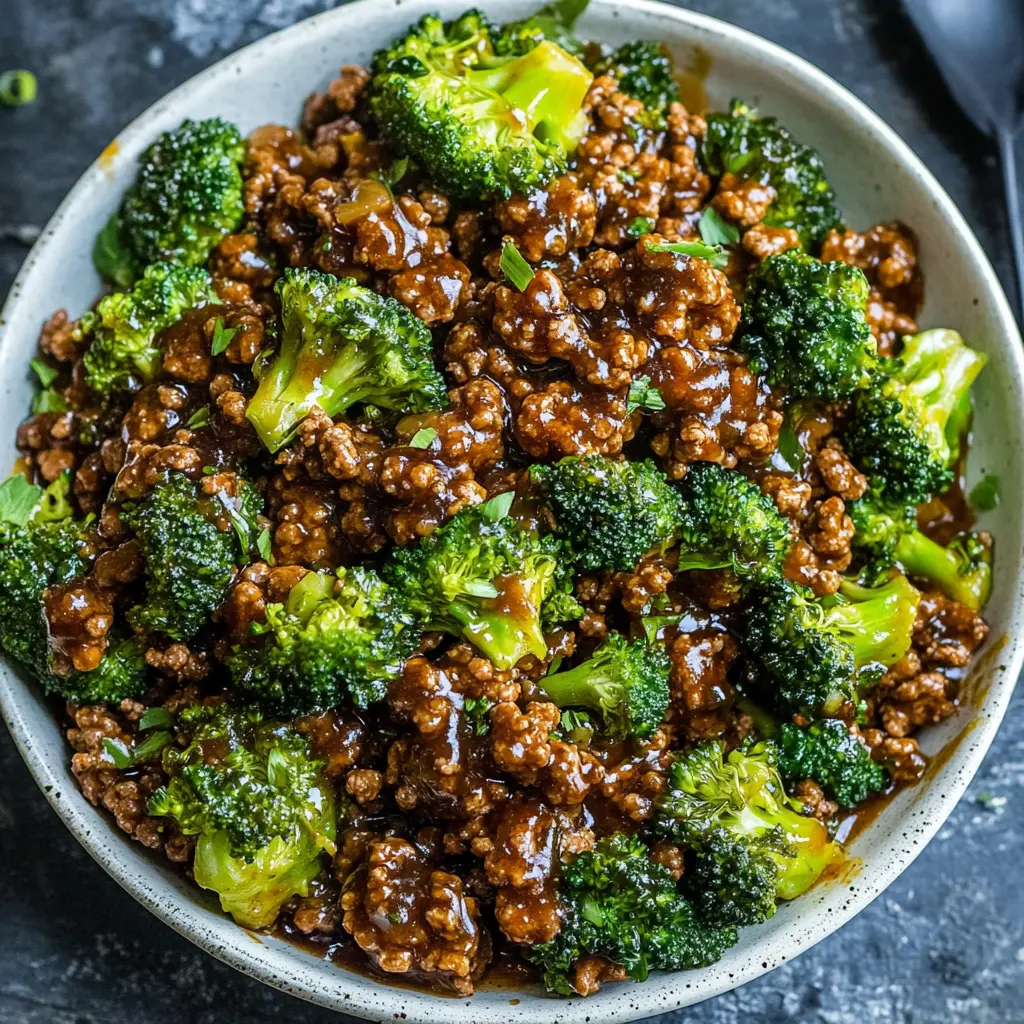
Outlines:
<svg viewBox="0 0 1024 1024"><path fill-rule="evenodd" d="M246 928L272 925L335 853L334 798L309 742L254 708L194 705L177 717L185 745L146 810L198 836L193 871Z"/></svg>

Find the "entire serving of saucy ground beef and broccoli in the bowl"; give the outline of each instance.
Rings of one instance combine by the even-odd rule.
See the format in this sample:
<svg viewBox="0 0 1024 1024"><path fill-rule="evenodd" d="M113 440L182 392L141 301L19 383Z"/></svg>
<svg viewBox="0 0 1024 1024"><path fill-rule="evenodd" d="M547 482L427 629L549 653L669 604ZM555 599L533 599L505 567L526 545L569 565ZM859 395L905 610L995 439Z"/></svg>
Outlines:
<svg viewBox="0 0 1024 1024"><path fill-rule="evenodd" d="M461 993L700 968L984 639L983 358L908 229L649 43L427 18L154 141L48 322L0 643L242 925Z"/></svg>

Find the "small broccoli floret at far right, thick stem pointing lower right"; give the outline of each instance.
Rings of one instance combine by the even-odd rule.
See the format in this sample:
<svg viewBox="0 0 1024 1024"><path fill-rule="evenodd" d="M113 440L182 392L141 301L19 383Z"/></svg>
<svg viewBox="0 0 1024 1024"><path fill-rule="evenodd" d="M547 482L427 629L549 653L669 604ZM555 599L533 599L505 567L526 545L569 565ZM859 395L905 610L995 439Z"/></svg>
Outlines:
<svg viewBox="0 0 1024 1024"><path fill-rule="evenodd" d="M873 490L847 506L856 532L852 547L863 559L861 578L884 580L894 565L926 580L946 597L980 611L992 586L992 553L969 531L941 544L918 529L912 504L887 502Z"/></svg>

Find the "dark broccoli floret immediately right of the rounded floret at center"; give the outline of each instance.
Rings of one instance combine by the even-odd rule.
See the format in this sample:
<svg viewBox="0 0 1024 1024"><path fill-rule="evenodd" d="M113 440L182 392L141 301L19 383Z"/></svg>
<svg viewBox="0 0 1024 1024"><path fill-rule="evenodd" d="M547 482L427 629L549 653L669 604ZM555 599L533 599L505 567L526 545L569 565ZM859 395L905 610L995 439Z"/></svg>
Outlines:
<svg viewBox="0 0 1024 1024"><path fill-rule="evenodd" d="M680 489L680 571L726 568L748 589L781 577L792 529L756 483L700 462L690 466Z"/></svg>

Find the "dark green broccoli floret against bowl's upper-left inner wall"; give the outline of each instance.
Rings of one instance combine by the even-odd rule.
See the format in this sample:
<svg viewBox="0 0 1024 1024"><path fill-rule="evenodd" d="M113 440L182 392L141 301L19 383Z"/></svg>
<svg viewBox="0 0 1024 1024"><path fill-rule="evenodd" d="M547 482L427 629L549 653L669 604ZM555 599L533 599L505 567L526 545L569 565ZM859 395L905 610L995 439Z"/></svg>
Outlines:
<svg viewBox="0 0 1024 1024"><path fill-rule="evenodd" d="M147 263L201 266L242 223L238 128L220 118L183 121L139 157L135 181L96 239L99 272L126 288Z"/></svg>

